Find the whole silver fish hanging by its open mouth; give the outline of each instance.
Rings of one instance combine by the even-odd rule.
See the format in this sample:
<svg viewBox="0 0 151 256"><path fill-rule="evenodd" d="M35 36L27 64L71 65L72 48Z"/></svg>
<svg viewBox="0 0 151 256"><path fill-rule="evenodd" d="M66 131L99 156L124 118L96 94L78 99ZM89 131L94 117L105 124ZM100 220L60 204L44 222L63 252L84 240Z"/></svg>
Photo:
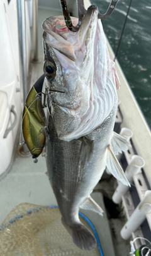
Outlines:
<svg viewBox="0 0 151 256"><path fill-rule="evenodd" d="M65 27L63 16L45 20L43 30L48 176L65 228L77 247L91 250L96 239L79 220L79 208L103 213L90 194L106 166L130 185L115 156L129 146L113 132L120 82L96 6L87 9L78 32Z"/></svg>

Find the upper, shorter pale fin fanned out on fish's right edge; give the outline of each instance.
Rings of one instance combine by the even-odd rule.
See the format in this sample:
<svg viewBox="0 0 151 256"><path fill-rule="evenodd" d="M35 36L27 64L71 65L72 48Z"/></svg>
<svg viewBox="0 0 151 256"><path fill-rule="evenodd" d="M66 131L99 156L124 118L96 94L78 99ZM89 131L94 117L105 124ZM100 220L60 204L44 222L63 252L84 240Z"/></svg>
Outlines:
<svg viewBox="0 0 151 256"><path fill-rule="evenodd" d="M111 149L113 150L114 154L118 155L118 152L125 152L128 150L128 147L131 147L130 142L114 131L113 137L111 138Z"/></svg>

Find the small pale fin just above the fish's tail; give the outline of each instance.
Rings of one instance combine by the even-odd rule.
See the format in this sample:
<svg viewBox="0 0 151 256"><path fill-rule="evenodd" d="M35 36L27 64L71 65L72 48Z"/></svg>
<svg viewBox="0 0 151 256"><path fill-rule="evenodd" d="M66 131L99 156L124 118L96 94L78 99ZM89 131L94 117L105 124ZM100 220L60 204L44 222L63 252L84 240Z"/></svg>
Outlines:
<svg viewBox="0 0 151 256"><path fill-rule="evenodd" d="M80 208L98 212L98 214L103 216L103 209L101 209L101 207L96 204L92 197L87 198L86 201L80 206Z"/></svg>

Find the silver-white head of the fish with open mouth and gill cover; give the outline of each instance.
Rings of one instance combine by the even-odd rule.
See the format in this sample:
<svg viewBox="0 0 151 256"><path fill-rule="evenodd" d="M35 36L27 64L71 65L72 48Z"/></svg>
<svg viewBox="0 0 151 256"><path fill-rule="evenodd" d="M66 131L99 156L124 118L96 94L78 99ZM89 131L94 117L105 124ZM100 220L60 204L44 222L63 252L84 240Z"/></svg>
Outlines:
<svg viewBox="0 0 151 256"><path fill-rule="evenodd" d="M77 21L72 17L74 26ZM96 5L87 9L77 32L66 27L64 16L50 17L42 27L52 119L58 137L69 141L92 131L111 112L117 98L114 63Z"/></svg>

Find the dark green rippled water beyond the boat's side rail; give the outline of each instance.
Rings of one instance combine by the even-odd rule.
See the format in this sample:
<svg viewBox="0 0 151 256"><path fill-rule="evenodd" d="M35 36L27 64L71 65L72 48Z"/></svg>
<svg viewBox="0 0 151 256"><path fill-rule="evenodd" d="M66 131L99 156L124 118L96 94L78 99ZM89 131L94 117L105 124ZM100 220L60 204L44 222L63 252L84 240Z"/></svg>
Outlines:
<svg viewBox="0 0 151 256"><path fill-rule="evenodd" d="M93 0L105 13L109 0ZM103 27L113 51L125 20L130 0L119 0ZM151 128L151 0L133 0L117 57L131 90ZM122 85L121 85L122 86Z"/></svg>

